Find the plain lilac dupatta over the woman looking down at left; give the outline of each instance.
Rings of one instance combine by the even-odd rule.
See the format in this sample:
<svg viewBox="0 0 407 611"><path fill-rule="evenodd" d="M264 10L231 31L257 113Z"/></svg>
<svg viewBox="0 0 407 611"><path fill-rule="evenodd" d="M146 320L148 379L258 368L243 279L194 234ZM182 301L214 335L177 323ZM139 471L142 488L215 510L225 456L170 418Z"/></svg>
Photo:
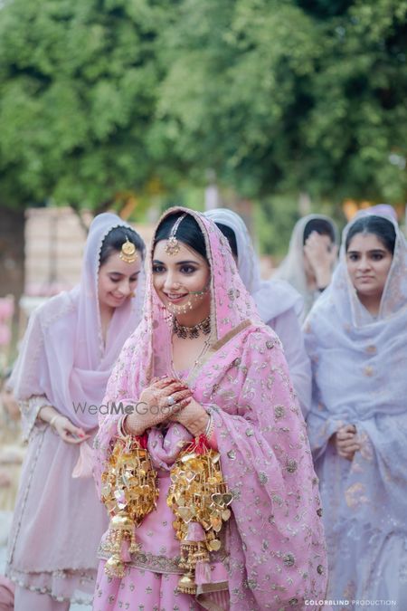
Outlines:
<svg viewBox="0 0 407 611"><path fill-rule="evenodd" d="M86 431L97 427L98 416L87 409L75 409L74 405L100 405L111 368L140 320L143 271L137 296L115 310L106 346L103 345L98 298L99 253L112 229L129 226L109 213L94 218L85 246L80 285L53 297L33 312L9 382L19 401L44 396L43 403L54 406ZM24 418L23 407L25 436L30 433L33 420Z"/></svg>

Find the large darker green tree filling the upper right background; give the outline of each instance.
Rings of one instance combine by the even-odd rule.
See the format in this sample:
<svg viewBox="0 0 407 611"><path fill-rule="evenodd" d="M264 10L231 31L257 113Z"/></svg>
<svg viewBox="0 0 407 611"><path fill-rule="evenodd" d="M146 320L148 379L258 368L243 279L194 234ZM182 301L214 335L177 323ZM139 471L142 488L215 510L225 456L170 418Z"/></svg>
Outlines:
<svg viewBox="0 0 407 611"><path fill-rule="evenodd" d="M405 0L184 0L172 16L159 133L192 176L405 199Z"/></svg>

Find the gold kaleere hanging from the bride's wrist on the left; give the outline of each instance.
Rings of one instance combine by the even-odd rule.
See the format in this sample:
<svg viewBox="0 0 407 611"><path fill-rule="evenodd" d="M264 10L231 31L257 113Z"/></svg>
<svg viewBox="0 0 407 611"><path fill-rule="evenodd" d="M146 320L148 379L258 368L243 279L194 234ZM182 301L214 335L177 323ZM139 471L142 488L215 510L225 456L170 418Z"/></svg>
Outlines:
<svg viewBox="0 0 407 611"><path fill-rule="evenodd" d="M150 456L136 437L118 439L101 481L102 501L110 515L105 549L111 556L105 572L110 577L122 578L127 562L123 548L128 545L129 554L139 550L136 529L147 513L156 509L159 493Z"/></svg>

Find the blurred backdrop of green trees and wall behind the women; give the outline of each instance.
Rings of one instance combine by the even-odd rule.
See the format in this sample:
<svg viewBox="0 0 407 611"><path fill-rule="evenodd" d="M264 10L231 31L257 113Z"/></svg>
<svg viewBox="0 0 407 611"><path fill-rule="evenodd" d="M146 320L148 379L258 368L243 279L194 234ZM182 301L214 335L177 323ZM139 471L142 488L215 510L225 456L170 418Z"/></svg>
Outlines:
<svg viewBox="0 0 407 611"><path fill-rule="evenodd" d="M231 207L264 276L301 215L403 222L406 55L403 0L0 0L0 367L99 212Z"/></svg>

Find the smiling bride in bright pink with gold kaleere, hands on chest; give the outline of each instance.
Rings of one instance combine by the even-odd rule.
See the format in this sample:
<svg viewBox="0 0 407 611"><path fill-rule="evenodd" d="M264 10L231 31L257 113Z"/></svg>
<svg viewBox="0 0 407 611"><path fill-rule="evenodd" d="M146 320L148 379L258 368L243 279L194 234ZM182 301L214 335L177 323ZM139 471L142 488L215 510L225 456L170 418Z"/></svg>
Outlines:
<svg viewBox="0 0 407 611"><path fill-rule="evenodd" d="M279 339L204 215L167 211L149 265L105 397L130 410L96 440L110 526L94 609L306 608L325 593L324 536Z"/></svg>

